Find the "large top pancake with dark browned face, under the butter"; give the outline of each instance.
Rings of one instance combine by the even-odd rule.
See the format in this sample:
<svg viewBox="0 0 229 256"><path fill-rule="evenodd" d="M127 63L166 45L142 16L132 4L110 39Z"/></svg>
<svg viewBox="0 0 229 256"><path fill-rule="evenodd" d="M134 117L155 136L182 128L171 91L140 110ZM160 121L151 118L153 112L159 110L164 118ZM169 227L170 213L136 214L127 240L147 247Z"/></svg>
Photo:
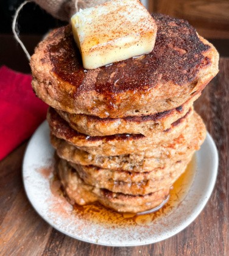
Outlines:
<svg viewBox="0 0 229 256"><path fill-rule="evenodd" d="M69 113L122 118L182 105L218 72L216 49L187 21L153 14L158 32L150 54L84 69L71 26L56 29L31 58L33 89Z"/></svg>

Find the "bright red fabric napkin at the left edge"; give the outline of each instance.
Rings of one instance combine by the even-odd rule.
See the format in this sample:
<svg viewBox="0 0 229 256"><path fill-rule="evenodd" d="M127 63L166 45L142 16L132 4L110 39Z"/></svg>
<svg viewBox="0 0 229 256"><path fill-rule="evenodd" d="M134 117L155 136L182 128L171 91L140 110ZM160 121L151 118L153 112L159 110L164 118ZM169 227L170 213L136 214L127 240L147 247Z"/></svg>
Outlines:
<svg viewBox="0 0 229 256"><path fill-rule="evenodd" d="M35 96L30 75L0 68L0 160L29 138L48 105Z"/></svg>

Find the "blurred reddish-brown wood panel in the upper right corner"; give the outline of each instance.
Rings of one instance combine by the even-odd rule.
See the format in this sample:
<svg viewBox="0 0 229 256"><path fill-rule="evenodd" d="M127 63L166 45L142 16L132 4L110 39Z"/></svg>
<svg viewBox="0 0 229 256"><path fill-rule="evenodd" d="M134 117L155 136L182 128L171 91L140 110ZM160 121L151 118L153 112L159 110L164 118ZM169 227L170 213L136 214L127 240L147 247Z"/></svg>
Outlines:
<svg viewBox="0 0 229 256"><path fill-rule="evenodd" d="M149 0L150 12L188 20L206 38L229 38L228 0Z"/></svg>

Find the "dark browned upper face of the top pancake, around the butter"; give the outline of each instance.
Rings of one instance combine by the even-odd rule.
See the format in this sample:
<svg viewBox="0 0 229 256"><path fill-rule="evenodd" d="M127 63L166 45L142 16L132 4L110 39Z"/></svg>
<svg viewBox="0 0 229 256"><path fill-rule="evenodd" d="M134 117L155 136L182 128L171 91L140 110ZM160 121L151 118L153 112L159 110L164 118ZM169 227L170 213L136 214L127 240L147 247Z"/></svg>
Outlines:
<svg viewBox="0 0 229 256"><path fill-rule="evenodd" d="M74 85L77 94L96 90L107 97L122 91L147 91L155 87L159 81L172 81L177 85L191 82L199 69L210 65L210 59L202 54L210 46L200 41L196 30L188 21L156 13L153 14L153 18L156 20L158 32L155 47L150 54L102 66L94 69L92 73L90 71L90 74L82 66L81 55L72 37L71 27L63 28L65 37L57 44L48 46L49 58L54 67L52 71L60 79ZM55 34L62 34L62 30L57 30ZM94 73L97 76L93 81ZM83 83L86 76L87 83Z"/></svg>

